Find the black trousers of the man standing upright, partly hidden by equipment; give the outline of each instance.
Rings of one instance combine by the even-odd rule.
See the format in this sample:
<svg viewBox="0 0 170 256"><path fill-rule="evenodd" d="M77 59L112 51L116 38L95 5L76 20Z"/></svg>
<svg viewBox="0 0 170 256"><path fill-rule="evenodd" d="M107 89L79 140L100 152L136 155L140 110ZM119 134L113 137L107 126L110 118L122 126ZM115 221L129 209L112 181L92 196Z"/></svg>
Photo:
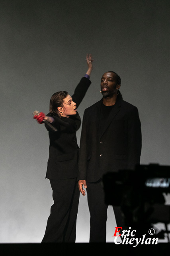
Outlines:
<svg viewBox="0 0 170 256"><path fill-rule="evenodd" d="M108 205L104 202L102 181L87 183L88 207L90 211L90 242L106 242ZM116 196L116 195L115 195ZM113 206L118 227L123 226L123 215L119 206ZM122 228L123 229L123 228ZM114 235L115 230L113 230ZM117 233L118 235L118 233Z"/></svg>

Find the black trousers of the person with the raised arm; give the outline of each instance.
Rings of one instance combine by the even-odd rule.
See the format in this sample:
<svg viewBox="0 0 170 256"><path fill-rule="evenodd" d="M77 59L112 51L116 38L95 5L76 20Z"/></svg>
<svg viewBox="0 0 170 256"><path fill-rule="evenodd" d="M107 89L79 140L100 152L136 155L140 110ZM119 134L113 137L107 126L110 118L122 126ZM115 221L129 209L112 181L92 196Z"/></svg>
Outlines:
<svg viewBox="0 0 170 256"><path fill-rule="evenodd" d="M76 241L76 218L80 192L76 178L50 180L54 204L42 243Z"/></svg>

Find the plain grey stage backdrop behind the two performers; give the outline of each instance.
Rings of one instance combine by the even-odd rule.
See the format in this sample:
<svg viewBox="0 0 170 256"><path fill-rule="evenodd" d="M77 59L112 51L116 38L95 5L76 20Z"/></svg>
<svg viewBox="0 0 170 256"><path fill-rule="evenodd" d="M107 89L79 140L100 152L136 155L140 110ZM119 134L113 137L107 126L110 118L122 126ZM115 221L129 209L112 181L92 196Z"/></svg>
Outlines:
<svg viewBox="0 0 170 256"><path fill-rule="evenodd" d="M32 112L47 113L54 92L74 92L86 53L94 70L80 116L100 100L102 74L117 72L123 99L139 109L141 163L170 164L169 7L169 0L0 0L1 243L43 238L53 204L45 180L49 138ZM114 226L109 207L107 241ZM80 196L77 242L88 242L89 228Z"/></svg>

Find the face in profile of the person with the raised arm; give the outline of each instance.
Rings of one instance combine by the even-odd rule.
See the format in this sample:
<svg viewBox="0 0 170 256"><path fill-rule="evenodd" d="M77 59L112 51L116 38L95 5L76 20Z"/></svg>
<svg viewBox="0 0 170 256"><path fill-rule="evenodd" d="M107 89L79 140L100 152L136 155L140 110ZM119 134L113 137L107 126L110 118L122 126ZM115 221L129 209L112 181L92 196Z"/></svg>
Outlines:
<svg viewBox="0 0 170 256"><path fill-rule="evenodd" d="M58 110L61 113L61 116L64 116L64 117L69 117L71 115L76 114L77 112L76 103L72 101L72 98L69 94L63 100L63 107L59 107Z"/></svg>

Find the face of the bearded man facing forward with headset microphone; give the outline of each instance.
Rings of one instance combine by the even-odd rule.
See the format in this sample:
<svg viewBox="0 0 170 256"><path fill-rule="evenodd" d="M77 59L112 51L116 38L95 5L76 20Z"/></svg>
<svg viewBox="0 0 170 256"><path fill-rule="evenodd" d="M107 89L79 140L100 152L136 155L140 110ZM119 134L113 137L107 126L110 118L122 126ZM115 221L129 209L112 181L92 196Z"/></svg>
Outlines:
<svg viewBox="0 0 170 256"><path fill-rule="evenodd" d="M103 98L117 94L117 89L119 89L120 86L117 85L116 77L117 75L113 72L106 72L103 74L100 84Z"/></svg>

